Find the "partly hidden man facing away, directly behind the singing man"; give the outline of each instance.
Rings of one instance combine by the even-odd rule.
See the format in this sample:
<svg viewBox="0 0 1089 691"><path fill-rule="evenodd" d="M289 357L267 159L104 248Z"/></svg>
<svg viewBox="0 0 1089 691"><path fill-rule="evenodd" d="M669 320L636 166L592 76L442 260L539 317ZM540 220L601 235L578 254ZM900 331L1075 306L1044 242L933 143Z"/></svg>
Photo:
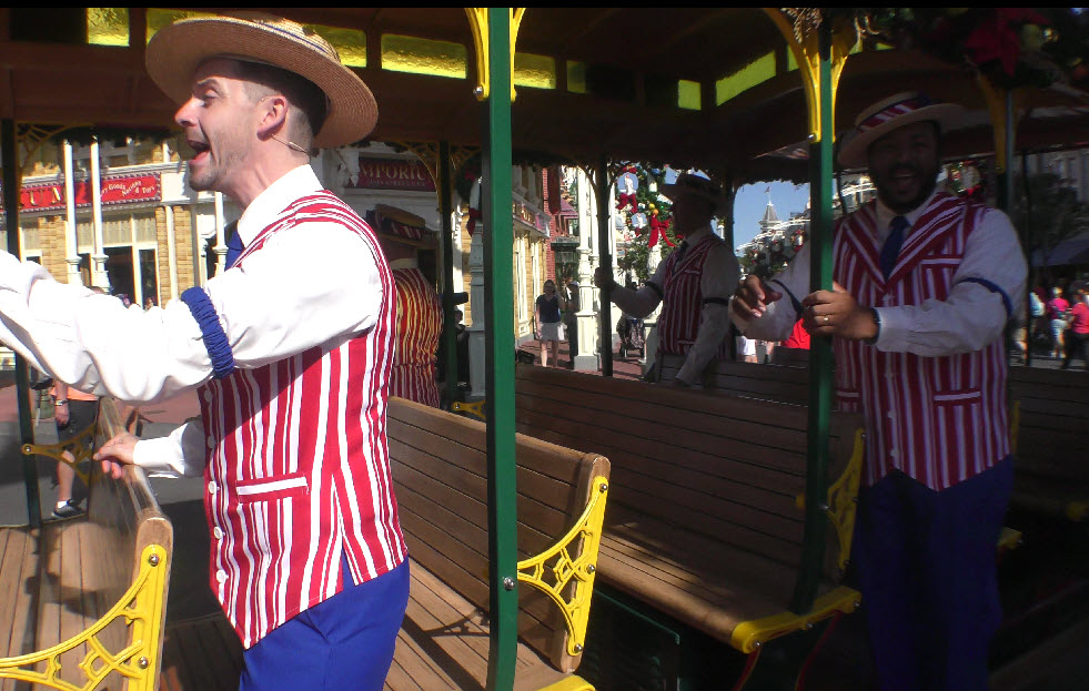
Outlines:
<svg viewBox="0 0 1089 691"><path fill-rule="evenodd" d="M403 209L377 204L369 217L397 284L397 348L390 395L437 408L442 404L435 366L443 301L420 271L420 250L434 250L435 235L423 219Z"/></svg>

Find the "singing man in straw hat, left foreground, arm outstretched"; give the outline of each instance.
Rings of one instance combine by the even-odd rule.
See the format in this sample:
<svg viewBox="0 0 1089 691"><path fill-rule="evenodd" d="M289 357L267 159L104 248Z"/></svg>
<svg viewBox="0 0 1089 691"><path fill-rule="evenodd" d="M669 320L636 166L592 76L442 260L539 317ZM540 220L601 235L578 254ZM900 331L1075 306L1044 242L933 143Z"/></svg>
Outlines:
<svg viewBox="0 0 1089 691"><path fill-rule="evenodd" d="M385 431L395 288L371 228L310 167L371 132L374 98L317 34L266 14L179 21L147 65L182 104L190 185L244 210L244 247L150 312L0 253L0 341L81 390L195 388L199 421L97 458L203 472L242 689L376 691L409 592Z"/></svg>

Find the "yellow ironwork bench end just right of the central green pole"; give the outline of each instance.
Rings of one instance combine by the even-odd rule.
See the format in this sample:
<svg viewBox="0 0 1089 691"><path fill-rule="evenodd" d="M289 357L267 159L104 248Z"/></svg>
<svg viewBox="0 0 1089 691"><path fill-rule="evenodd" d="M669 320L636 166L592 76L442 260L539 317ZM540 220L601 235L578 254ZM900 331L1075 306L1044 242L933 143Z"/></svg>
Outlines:
<svg viewBox="0 0 1089 691"><path fill-rule="evenodd" d="M544 592L563 612L568 633L567 654L571 656L581 654L586 641L608 480L595 477L593 487L596 491L567 535L549 549L518 562L518 580ZM545 576L549 573L546 581ZM565 591L571 593L569 599L565 599Z"/></svg>

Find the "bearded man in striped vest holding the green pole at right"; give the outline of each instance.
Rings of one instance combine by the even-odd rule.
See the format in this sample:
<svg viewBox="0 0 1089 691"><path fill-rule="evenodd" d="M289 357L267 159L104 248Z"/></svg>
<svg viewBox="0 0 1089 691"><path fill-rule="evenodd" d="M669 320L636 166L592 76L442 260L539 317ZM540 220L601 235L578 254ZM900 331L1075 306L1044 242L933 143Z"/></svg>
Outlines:
<svg viewBox="0 0 1089 691"><path fill-rule="evenodd" d="M1001 619L995 550L1012 486L1002 333L1027 267L1006 214L936 191L960 109L900 93L864 111L839 161L877 200L841 219L835 285L809 293L808 245L732 316L778 339L833 338L840 410L866 418L851 561L881 689L987 688Z"/></svg>

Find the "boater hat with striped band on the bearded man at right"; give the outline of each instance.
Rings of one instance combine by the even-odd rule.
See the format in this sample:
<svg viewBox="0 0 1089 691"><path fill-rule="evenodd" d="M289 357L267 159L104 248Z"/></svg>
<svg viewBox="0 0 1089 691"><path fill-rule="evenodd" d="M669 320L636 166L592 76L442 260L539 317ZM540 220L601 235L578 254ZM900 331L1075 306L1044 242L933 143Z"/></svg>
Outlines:
<svg viewBox="0 0 1089 691"><path fill-rule="evenodd" d="M919 91L905 91L879 101L855 119L855 129L839 150L839 163L844 167L866 167L869 145L912 122L932 120L942 132L959 124L964 109L954 103L935 103Z"/></svg>

